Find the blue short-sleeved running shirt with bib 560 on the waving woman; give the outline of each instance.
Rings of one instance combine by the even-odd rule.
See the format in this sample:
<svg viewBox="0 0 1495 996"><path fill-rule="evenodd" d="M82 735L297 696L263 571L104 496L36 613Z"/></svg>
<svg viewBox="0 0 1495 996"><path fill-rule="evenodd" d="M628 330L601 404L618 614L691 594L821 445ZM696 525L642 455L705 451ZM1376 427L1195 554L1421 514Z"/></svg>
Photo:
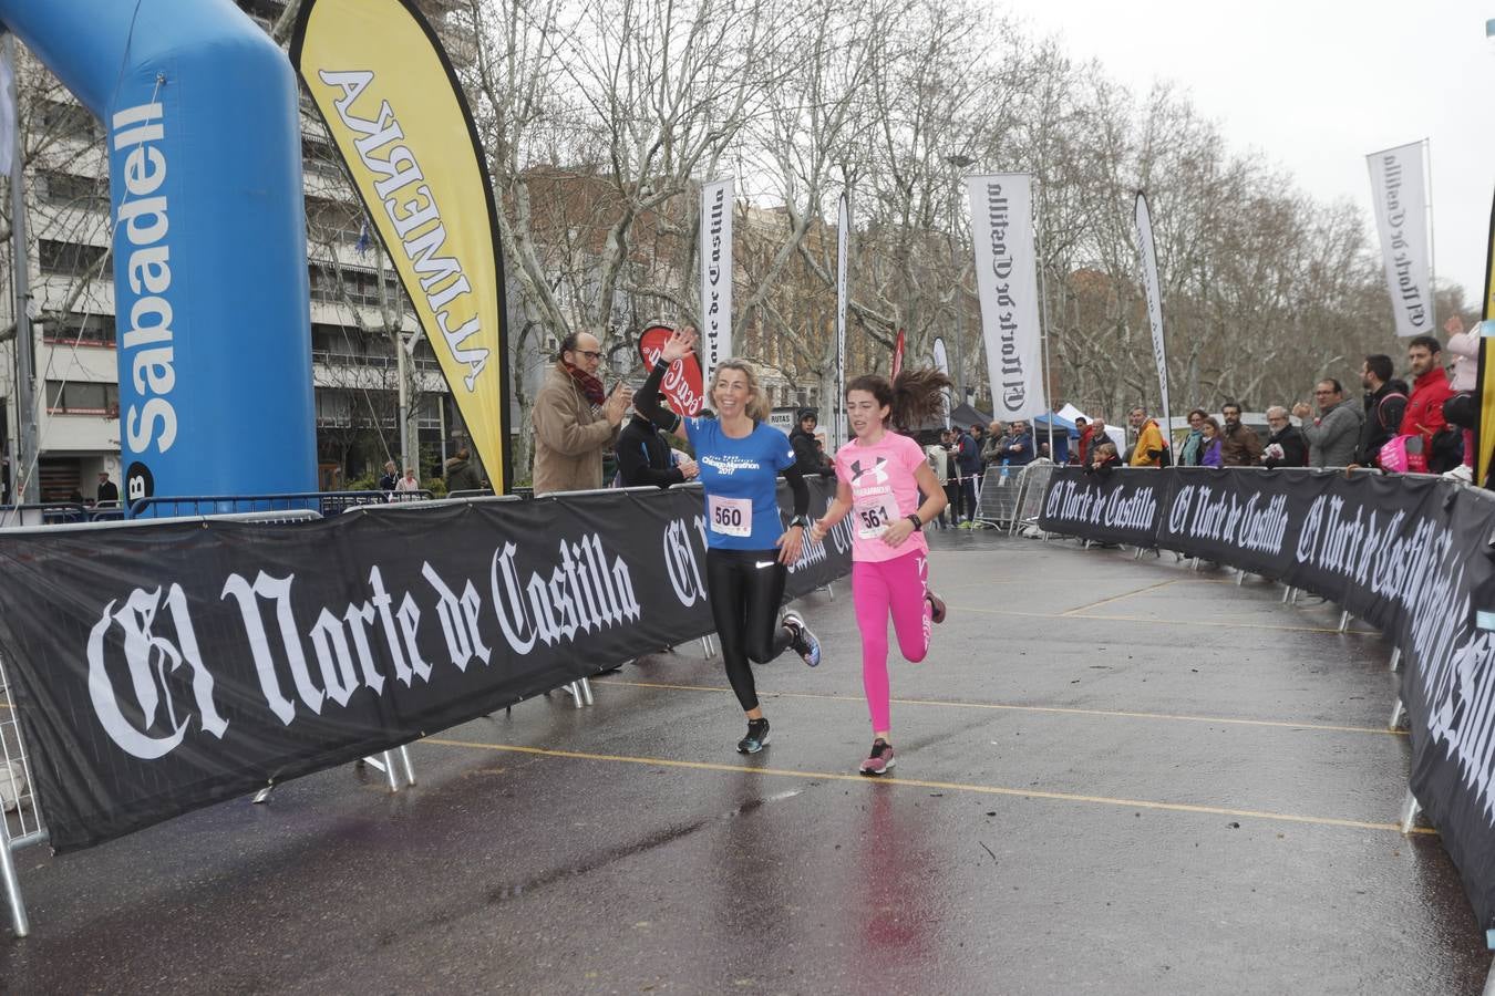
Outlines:
<svg viewBox="0 0 1495 996"><path fill-rule="evenodd" d="M758 423L733 439L715 418L686 418L706 490L706 545L712 550L773 550L783 535L779 470L794 466L789 438Z"/></svg>

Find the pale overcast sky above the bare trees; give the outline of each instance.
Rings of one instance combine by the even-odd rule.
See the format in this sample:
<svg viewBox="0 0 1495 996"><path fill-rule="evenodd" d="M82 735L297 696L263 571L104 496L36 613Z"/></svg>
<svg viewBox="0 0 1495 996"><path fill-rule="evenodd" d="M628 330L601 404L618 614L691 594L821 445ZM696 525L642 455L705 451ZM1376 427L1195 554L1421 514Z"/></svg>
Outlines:
<svg viewBox="0 0 1495 996"><path fill-rule="evenodd" d="M1371 220L1365 155L1431 139L1434 267L1477 306L1495 193L1495 0L1005 0L1035 34L1145 93L1187 90L1238 152Z"/></svg>

